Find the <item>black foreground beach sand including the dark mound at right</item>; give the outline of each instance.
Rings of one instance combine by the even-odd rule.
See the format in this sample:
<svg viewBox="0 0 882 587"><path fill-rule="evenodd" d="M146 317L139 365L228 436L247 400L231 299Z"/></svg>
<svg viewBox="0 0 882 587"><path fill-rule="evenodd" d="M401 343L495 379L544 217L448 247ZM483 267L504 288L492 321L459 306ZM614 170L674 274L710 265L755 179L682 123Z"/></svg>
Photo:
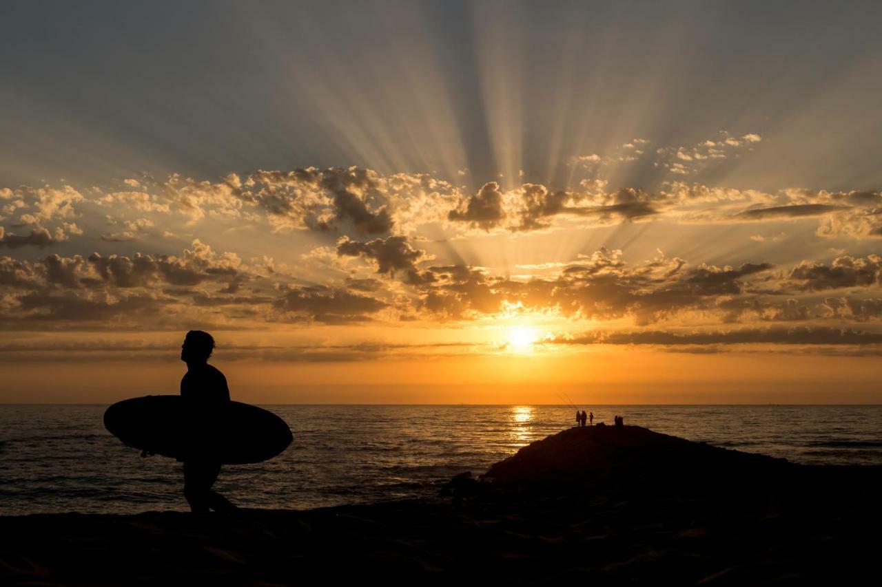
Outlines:
<svg viewBox="0 0 882 587"><path fill-rule="evenodd" d="M0 518L0 584L876 584L879 467L572 428L446 496Z"/></svg>

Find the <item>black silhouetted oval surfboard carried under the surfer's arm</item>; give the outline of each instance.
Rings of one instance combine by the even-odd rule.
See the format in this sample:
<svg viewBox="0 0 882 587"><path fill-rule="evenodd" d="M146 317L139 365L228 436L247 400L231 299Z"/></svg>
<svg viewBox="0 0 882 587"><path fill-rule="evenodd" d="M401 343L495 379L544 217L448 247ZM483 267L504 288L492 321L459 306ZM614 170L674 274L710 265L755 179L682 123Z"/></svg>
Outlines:
<svg viewBox="0 0 882 587"><path fill-rule="evenodd" d="M104 427L127 446L178 460L260 463L294 440L285 420L257 405L196 404L181 396L146 396L117 402Z"/></svg>

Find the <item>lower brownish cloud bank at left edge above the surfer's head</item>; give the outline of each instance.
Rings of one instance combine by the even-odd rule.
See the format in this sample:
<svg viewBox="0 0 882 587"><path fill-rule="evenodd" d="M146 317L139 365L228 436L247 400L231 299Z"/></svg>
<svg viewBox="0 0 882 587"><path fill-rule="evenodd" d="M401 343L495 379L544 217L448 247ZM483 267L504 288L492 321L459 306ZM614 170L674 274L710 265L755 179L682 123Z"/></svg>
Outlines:
<svg viewBox="0 0 882 587"><path fill-rule="evenodd" d="M237 306L247 304L248 296L232 294L252 280L263 282L265 278L260 277L257 268L249 271L235 254L215 253L198 240L181 256L54 254L34 260L3 256L0 319L9 322L5 330L61 328L64 323L89 321L95 321L94 328L99 330L138 323L155 329L178 321L182 305L190 304L192 308L198 295L211 294L218 300L227 296L227 301ZM161 284L175 286L177 290L161 293L157 287ZM193 286L203 289L194 291ZM260 286L272 290L268 284ZM184 301L184 297L191 299ZM275 297L264 296L262 303L268 304ZM247 311L237 309L228 316L217 317L229 322L246 314ZM201 319L195 315L191 318ZM265 317L259 320L265 322Z"/></svg>

